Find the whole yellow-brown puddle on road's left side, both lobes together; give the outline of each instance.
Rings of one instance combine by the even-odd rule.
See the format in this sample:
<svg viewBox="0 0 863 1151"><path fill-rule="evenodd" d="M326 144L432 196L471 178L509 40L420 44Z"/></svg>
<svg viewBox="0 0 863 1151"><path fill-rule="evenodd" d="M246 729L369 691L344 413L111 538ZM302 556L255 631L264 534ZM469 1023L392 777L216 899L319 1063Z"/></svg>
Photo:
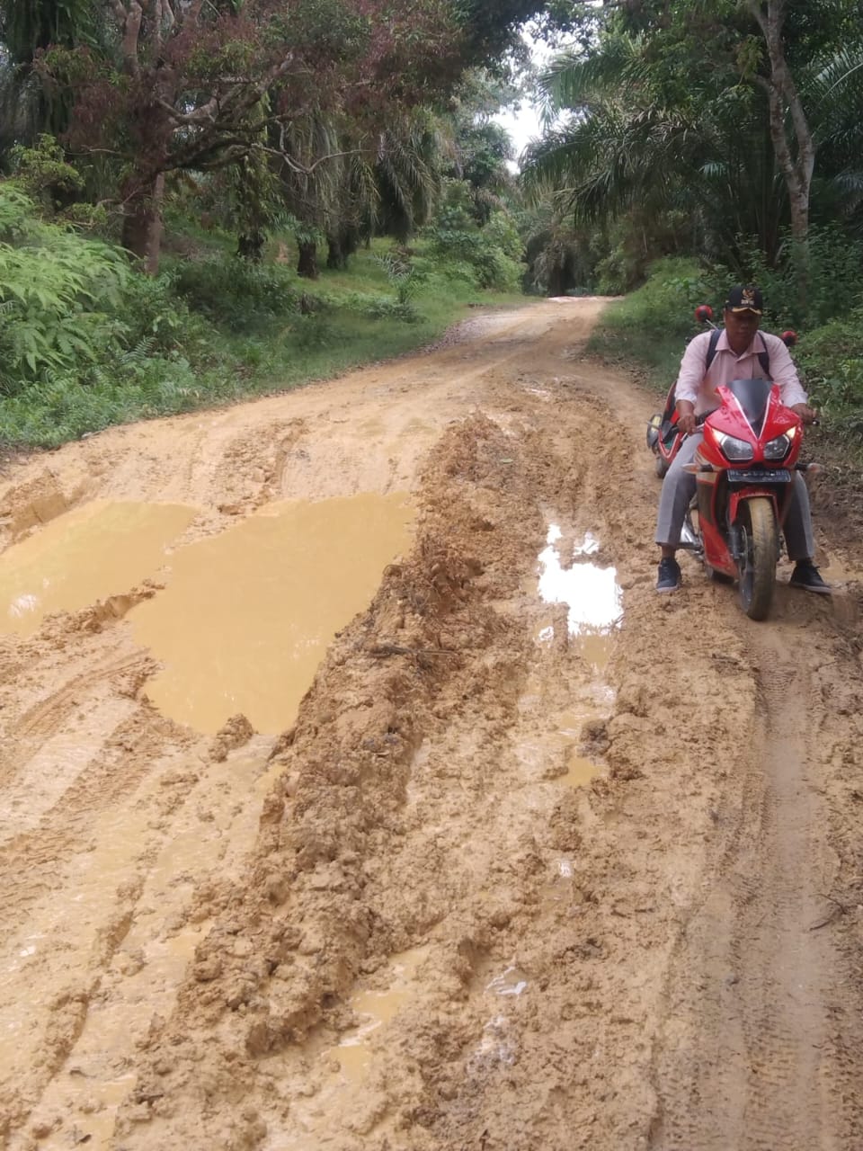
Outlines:
<svg viewBox="0 0 863 1151"><path fill-rule="evenodd" d="M411 541L403 494L270 504L220 535L176 547L198 509L94 502L0 556L0 630L165 585L130 613L162 671L147 695L206 733L243 712L260 732L290 726L335 633L367 607Z"/></svg>

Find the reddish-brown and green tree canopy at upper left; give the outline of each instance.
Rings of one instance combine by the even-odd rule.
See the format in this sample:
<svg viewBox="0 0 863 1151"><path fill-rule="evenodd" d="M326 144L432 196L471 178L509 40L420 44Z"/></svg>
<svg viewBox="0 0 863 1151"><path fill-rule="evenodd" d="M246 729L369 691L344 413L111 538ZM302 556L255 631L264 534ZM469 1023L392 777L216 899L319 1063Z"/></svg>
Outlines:
<svg viewBox="0 0 863 1151"><path fill-rule="evenodd" d="M260 192L269 168L289 209L333 233L339 205L349 216L365 211L356 196L364 170L376 168L403 206L415 198L403 195L405 165L396 176L399 153L420 155L415 129L404 129L413 109L445 112L465 73L499 63L540 8L533 0L2 0L9 102L26 92L31 105L26 120L7 115L3 138L32 143L52 131L76 162L98 167L100 200L122 212L123 244L151 269L171 173L234 168ZM52 105L61 116L48 114Z"/></svg>

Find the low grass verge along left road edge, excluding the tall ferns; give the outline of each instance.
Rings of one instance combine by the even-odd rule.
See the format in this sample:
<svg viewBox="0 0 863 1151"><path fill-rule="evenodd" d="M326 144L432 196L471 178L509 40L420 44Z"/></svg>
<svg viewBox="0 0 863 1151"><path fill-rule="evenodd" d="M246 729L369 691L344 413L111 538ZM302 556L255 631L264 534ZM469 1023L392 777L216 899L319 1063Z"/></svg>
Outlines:
<svg viewBox="0 0 863 1151"><path fill-rule="evenodd" d="M285 237L260 268L232 256L231 243L193 228L173 235L159 281L137 289L127 346L0 397L0 444L55 448L115 424L276 394L423 348L478 305L526 303L433 264L421 245L420 274L399 300L382 262L388 241L316 281L296 275Z"/></svg>

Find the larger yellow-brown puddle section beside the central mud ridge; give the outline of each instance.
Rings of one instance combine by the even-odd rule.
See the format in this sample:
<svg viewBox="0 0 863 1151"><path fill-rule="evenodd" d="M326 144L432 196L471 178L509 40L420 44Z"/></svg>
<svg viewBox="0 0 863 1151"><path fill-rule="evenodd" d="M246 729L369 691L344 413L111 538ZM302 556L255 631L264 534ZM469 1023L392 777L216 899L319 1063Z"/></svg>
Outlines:
<svg viewBox="0 0 863 1151"><path fill-rule="evenodd" d="M243 712L276 734L335 633L411 541L404 494L272 504L173 557L168 586L130 612L165 669L147 684L171 718L214 733Z"/></svg>

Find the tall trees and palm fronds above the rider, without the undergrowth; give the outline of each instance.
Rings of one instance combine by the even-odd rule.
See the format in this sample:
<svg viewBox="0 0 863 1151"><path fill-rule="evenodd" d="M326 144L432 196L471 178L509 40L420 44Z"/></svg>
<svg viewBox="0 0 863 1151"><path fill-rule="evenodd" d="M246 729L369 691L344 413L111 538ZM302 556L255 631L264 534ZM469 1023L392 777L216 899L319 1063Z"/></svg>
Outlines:
<svg viewBox="0 0 863 1151"><path fill-rule="evenodd" d="M586 25L543 77L557 120L532 151L534 198L564 233L606 233L623 288L666 254L751 277L787 262L793 233L805 308L809 228L863 228L856 5L644 0L594 9Z"/></svg>

